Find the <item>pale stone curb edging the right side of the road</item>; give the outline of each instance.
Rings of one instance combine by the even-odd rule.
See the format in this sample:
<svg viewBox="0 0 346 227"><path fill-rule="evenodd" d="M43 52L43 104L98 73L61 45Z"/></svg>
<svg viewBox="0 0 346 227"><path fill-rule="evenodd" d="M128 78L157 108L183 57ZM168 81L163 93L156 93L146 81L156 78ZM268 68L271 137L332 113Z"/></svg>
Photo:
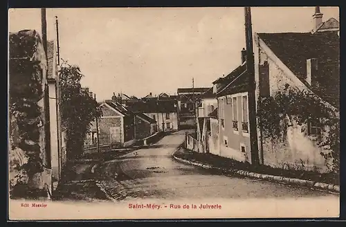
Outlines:
<svg viewBox="0 0 346 227"><path fill-rule="evenodd" d="M302 179L295 179L295 178L288 178L284 176L273 176L273 175L268 175L268 174L258 174L255 172L248 172L245 170L228 170L228 169L223 169L220 167L215 167L213 165L206 165L203 163L197 163L194 161L188 161L183 158L178 158L174 154L172 155L172 158L174 158L176 161L180 161L181 163L188 163L190 165L194 165L197 167L201 167L203 169L207 170L219 170L225 174L232 174L232 175L239 175L239 176L248 176L251 178L256 178L256 179L264 179L267 181L275 181L275 182L280 182L280 183L289 183L292 185L300 185L300 186L305 186L305 187L310 187L310 188L316 188L320 190L328 190L331 192L338 192L340 193L340 185L333 185L333 184L327 184L327 183L320 183L320 182L315 182L315 181L308 181L308 180L302 180Z"/></svg>

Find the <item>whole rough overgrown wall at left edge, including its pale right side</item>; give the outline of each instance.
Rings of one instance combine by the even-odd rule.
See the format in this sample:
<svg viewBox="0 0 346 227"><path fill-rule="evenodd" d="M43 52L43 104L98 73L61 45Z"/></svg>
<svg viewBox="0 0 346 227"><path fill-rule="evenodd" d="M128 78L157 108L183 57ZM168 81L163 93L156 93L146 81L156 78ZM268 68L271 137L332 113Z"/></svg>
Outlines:
<svg viewBox="0 0 346 227"><path fill-rule="evenodd" d="M49 143L47 61L36 30L9 35L9 180L13 192L19 176L27 179L25 192L52 193L51 144ZM28 163L23 174L20 169ZM23 174L23 175L22 175ZM22 179L22 180L23 180ZM12 194L13 195L13 194ZM17 194L26 197L24 194Z"/></svg>

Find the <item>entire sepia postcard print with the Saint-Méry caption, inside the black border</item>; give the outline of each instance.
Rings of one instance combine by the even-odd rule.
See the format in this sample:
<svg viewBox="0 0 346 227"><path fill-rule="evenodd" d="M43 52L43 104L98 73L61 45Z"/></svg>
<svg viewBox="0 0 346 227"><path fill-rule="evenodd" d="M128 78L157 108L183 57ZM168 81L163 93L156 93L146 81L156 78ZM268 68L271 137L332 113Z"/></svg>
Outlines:
<svg viewBox="0 0 346 227"><path fill-rule="evenodd" d="M339 8L8 10L8 219L340 215Z"/></svg>

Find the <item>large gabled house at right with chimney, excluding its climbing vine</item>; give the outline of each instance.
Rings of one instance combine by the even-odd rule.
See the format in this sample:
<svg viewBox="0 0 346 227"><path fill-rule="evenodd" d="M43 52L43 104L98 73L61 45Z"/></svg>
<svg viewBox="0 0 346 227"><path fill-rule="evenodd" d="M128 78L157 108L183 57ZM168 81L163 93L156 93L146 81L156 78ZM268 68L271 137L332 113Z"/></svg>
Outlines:
<svg viewBox="0 0 346 227"><path fill-rule="evenodd" d="M339 109L340 38L338 21L322 22L320 8L313 15L313 29L307 33L255 33L256 97L273 97L285 87L307 91L336 112ZM313 114L313 113L311 113ZM321 136L311 119L307 125L289 126L284 141L269 141L258 132L262 164L302 170L327 171L316 140ZM307 134L302 129L307 129Z"/></svg>

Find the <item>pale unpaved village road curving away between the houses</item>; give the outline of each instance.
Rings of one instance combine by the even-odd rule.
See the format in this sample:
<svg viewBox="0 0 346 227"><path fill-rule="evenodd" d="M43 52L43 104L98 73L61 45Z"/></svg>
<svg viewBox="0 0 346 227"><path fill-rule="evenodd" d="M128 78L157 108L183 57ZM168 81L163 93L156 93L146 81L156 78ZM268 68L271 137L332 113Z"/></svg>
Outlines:
<svg viewBox="0 0 346 227"><path fill-rule="evenodd" d="M101 182L113 199L296 199L338 195L260 179L211 174L174 161L172 154L184 140L185 131L165 136L148 149L102 163L96 170L107 176ZM118 178L116 178L118 172Z"/></svg>

